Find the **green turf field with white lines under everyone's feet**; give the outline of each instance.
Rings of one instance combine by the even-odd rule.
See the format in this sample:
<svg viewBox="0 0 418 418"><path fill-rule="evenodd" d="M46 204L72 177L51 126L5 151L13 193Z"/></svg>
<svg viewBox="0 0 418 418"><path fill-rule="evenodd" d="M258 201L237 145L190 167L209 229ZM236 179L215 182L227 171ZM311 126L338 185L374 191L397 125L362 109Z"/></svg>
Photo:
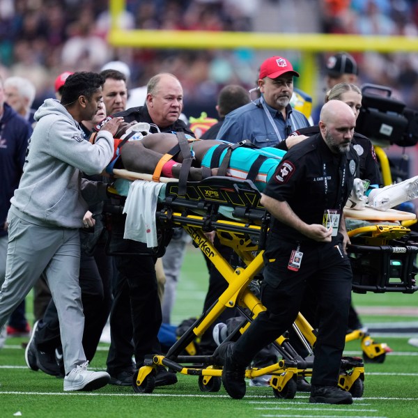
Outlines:
<svg viewBox="0 0 418 418"><path fill-rule="evenodd" d="M200 314L208 285L203 256L189 248L178 287L173 323ZM152 394L134 394L131 387L108 385L97 392L64 393L62 380L26 368L22 342L8 339L0 350L0 418L4 417L418 417L418 348L399 333L409 324L417 328L418 295L367 293L354 295L365 325L396 325L390 334L377 335L394 350L383 364L365 364L364 396L353 405L313 405L308 394L277 399L269 387L248 387L233 400L223 387L217 393L199 390L196 376L178 375L177 385L156 388ZM28 305L30 306L30 301ZM383 309L385 308L385 309ZM390 308L390 309L389 309ZM28 314L31 319L31 314ZM389 336L388 336L389 335ZM372 334L373 337L373 334ZM359 341L346 346L347 355L361 355ZM104 370L107 345L101 344L92 366Z"/></svg>

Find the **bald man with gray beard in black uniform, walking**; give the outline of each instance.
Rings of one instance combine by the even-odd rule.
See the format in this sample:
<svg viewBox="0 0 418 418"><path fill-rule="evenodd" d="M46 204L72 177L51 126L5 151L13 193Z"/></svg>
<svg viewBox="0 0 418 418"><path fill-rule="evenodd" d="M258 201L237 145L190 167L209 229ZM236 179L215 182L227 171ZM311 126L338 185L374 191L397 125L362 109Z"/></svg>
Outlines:
<svg viewBox="0 0 418 418"><path fill-rule="evenodd" d="M331 100L320 133L291 148L265 187L261 203L272 215L261 300L266 307L236 341L224 343L222 382L232 398L245 396L245 369L254 355L290 329L307 283L318 293L311 403L353 403L337 386L352 273L343 207L353 188L358 156L351 140L355 115ZM307 204L309 202L309 204Z"/></svg>

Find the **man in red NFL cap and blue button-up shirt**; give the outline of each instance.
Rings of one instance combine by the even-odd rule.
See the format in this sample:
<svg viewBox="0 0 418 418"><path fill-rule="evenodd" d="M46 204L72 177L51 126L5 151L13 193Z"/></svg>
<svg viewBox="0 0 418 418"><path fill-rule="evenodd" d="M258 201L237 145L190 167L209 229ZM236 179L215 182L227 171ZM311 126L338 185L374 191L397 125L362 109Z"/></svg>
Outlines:
<svg viewBox="0 0 418 418"><path fill-rule="evenodd" d="M233 143L247 139L258 147L277 146L284 150L299 141L289 135L308 127L309 122L302 112L291 107L293 77L299 74L286 58L266 59L257 82L261 97L228 114L216 139Z"/></svg>

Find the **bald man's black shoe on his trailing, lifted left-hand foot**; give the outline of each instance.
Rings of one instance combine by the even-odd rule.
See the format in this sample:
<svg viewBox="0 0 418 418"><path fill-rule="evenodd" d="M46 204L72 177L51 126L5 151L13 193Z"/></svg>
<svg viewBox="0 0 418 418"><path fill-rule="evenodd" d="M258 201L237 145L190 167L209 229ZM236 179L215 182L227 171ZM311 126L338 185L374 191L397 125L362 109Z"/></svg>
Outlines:
<svg viewBox="0 0 418 418"><path fill-rule="evenodd" d="M228 341L219 346L219 357L223 359L222 383L229 396L241 399L245 396L245 366L233 359L233 342Z"/></svg>

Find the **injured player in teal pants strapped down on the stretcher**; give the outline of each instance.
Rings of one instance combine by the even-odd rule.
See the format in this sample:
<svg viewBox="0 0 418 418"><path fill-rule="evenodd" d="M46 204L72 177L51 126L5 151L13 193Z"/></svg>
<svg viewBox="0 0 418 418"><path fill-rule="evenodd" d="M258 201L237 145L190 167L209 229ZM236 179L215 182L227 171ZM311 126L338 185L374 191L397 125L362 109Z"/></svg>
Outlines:
<svg viewBox="0 0 418 418"><path fill-rule="evenodd" d="M302 141L304 135L300 136ZM91 139L94 141L94 138ZM210 176L231 176L240 180L253 181L263 192L268 180L286 154L278 148L254 148L247 141L231 144L215 139L196 139L177 134L149 134L147 123L123 123L116 134L114 158L107 168L126 169L137 173L199 181ZM361 184L357 180L356 185ZM369 197L364 189L353 189L350 201L357 201L355 209L366 205L378 210L387 210L404 201L418 197L418 176L396 185L373 189Z"/></svg>

